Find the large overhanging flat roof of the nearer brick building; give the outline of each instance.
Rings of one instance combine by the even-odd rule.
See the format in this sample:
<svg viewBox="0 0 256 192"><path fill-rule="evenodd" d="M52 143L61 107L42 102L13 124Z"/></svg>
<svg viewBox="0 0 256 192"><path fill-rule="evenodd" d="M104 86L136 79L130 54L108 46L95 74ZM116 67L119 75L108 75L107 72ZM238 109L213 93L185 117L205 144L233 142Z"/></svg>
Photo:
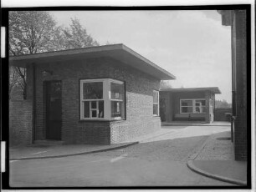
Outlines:
<svg viewBox="0 0 256 192"><path fill-rule="evenodd" d="M161 80L172 80L176 77L167 72L165 69L157 66L147 58L144 58L139 53L136 53L131 48L124 44L111 44L104 46L95 46L89 48L77 48L63 51L34 53L9 58L9 63L16 67L26 67L28 63L47 63L55 61L64 61L74 58L101 58L110 57L119 60L122 63L130 65L133 68L139 69L144 73Z"/></svg>

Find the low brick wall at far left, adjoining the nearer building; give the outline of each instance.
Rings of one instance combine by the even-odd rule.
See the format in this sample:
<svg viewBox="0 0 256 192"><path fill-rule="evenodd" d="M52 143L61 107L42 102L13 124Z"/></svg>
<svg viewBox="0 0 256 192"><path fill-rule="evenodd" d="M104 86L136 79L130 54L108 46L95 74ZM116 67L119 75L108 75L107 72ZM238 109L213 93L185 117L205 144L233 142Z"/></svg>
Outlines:
<svg viewBox="0 0 256 192"><path fill-rule="evenodd" d="M32 144L32 101L9 102L9 144Z"/></svg>

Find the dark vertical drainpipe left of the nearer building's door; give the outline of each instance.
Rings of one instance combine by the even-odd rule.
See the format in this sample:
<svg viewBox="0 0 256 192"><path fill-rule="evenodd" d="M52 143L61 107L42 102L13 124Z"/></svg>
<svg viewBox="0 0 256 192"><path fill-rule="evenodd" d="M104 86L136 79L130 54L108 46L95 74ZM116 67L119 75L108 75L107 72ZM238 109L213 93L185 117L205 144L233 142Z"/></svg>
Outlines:
<svg viewBox="0 0 256 192"><path fill-rule="evenodd" d="M35 63L32 63L33 68L33 139L32 144L34 144L34 141L36 139L35 136L35 130L36 130L36 67Z"/></svg>

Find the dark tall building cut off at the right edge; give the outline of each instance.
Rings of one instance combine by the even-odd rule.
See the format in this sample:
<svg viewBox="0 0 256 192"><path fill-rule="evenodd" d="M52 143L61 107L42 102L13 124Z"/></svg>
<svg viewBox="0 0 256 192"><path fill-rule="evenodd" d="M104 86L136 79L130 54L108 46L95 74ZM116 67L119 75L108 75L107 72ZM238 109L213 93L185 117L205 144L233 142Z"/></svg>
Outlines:
<svg viewBox="0 0 256 192"><path fill-rule="evenodd" d="M247 68L251 64L248 60L250 13L248 9L223 10L218 13L222 15L223 26L231 26L234 154L236 160L247 160L250 132L247 114Z"/></svg>

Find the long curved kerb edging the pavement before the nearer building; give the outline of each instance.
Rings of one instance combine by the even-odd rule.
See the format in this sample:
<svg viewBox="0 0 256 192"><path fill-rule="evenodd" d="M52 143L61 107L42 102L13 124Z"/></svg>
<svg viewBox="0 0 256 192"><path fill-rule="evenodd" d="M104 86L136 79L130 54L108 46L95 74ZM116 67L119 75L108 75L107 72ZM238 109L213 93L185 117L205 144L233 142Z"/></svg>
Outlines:
<svg viewBox="0 0 256 192"><path fill-rule="evenodd" d="M27 160L27 159L52 159L52 158L63 158L63 157L69 157L69 156L76 156L76 155L81 155L81 154L95 154L95 153L100 153L100 152L105 152L109 150L115 150L115 149L122 149L134 144L139 144L140 142L132 142L130 144L123 144L120 146L116 147L110 147L106 149L98 149L98 150L93 150L93 151L87 151L87 152L81 152L81 153L74 153L74 154L56 154L56 155L49 155L49 156L42 156L42 157L23 157L23 158L13 158L9 160Z"/></svg>

